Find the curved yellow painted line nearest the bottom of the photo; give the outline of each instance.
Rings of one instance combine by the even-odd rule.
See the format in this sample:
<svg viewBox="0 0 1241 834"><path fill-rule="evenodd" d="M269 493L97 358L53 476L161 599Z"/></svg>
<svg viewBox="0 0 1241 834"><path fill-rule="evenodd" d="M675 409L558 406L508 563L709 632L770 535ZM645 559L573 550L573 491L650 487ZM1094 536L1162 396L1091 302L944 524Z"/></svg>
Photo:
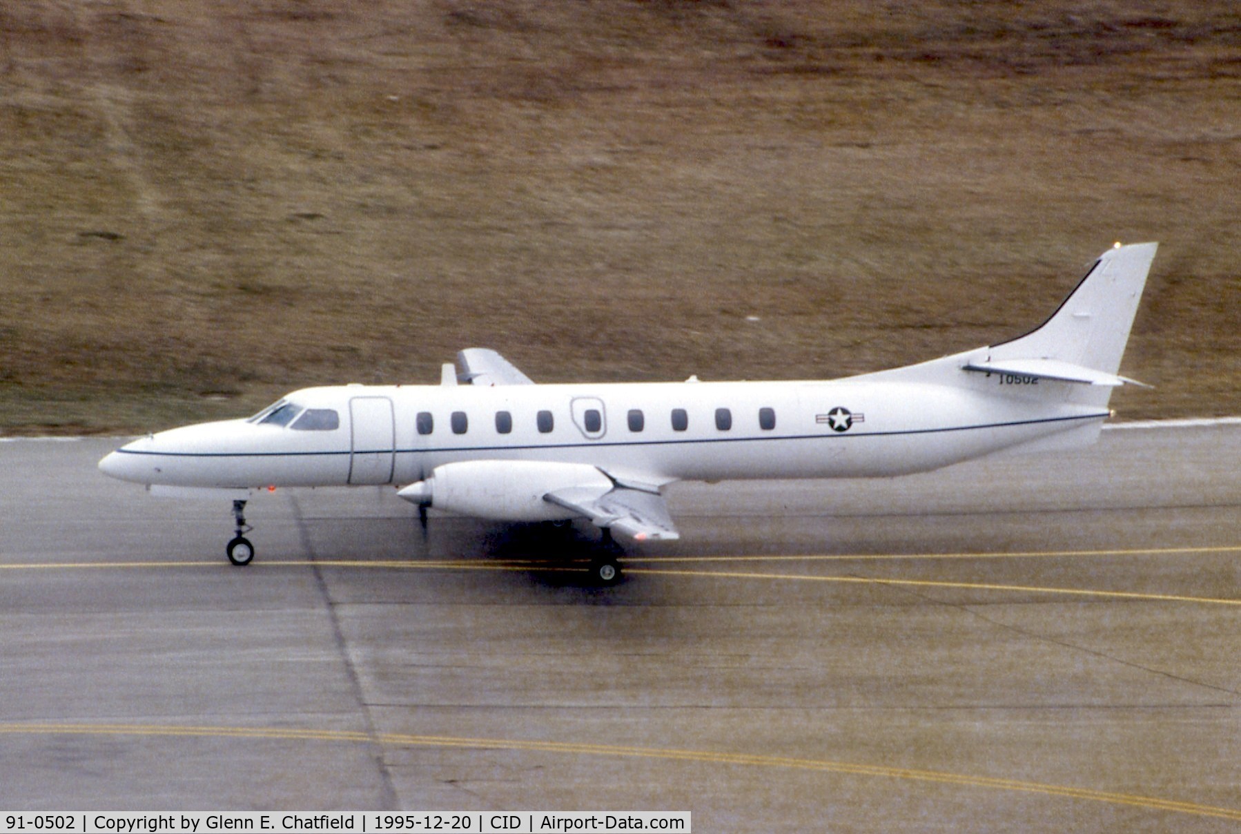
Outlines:
<svg viewBox="0 0 1241 834"><path fill-rule="evenodd" d="M58 724L58 722L10 722L0 724L0 735L86 735L86 736L163 736L163 737L211 737L211 738L251 738L274 741L328 741L374 743L414 747L446 747L457 750L513 750L534 753L563 753L581 756L614 756L632 758L660 758L671 761L704 762L710 764L737 764L746 767L771 767L840 773L846 776L871 776L880 778L908 779L954 784L961 787L990 788L997 791L1015 791L1037 793L1071 799L1088 799L1109 804L1131 805L1152 810L1165 810L1196 817L1215 817L1241 822L1241 809L1204 805L1175 799L1160 799L1131 793L1077 788L1064 784L1024 782L990 776L969 776L944 771L921 768L890 767L884 764L864 764L830 760L771 756L759 753L735 753L707 750L679 750L663 747L632 747L622 745L599 745L582 742L537 741L519 738L470 738L457 736L427 736L381 732L371 735L347 730L313 730L280 727L228 727L228 726L180 726L180 725L125 725L125 724Z"/></svg>

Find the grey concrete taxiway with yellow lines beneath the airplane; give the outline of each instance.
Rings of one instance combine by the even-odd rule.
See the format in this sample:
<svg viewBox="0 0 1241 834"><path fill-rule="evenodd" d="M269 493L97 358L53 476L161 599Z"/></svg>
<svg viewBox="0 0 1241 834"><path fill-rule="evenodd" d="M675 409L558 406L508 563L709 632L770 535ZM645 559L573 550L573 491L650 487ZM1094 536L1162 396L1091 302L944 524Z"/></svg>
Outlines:
<svg viewBox="0 0 1241 834"><path fill-rule="evenodd" d="M587 529L391 488L230 506L0 443L0 807L659 809L696 832L1241 823L1241 427Z"/></svg>

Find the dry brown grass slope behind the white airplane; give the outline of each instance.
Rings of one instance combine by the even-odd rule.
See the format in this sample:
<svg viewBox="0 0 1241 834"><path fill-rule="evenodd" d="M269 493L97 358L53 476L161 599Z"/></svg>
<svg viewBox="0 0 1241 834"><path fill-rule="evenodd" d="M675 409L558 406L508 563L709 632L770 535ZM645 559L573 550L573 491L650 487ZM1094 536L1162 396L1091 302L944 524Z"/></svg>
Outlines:
<svg viewBox="0 0 1241 834"><path fill-rule="evenodd" d="M0 432L320 382L823 377L1160 256L1127 417L1241 412L1235 2L0 6ZM750 321L747 316L758 316Z"/></svg>

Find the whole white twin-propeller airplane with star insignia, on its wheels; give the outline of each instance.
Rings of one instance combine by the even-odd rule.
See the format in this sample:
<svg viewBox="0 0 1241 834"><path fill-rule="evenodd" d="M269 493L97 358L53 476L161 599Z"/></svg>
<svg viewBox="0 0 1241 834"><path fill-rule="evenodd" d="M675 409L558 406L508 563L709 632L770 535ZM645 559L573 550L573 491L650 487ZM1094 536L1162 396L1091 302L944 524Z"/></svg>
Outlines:
<svg viewBox="0 0 1241 834"><path fill-rule="evenodd" d="M438 386L295 391L248 419L174 428L99 462L113 478L230 490L247 565L251 490L408 484L426 509L503 521L589 519L635 541L676 539L675 480L889 477L1018 447L1072 449L1109 416L1157 243L1119 246L1041 326L962 354L830 381L535 385L493 350ZM611 555L592 563L614 582Z"/></svg>

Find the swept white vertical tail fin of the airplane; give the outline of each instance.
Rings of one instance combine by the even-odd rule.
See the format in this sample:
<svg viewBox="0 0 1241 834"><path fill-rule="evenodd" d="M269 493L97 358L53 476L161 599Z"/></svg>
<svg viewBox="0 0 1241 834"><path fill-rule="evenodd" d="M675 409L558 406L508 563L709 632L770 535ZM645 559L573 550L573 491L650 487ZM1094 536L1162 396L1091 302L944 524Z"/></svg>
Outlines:
<svg viewBox="0 0 1241 834"><path fill-rule="evenodd" d="M1069 381L1132 382L1116 372L1121 370L1121 356L1158 247L1158 243L1134 243L1104 252L1050 319L1024 336L992 345L988 362L999 366L1042 360L1049 366L1071 365L1096 372L1082 374L1090 379ZM1111 379L1104 381L1104 377Z"/></svg>

